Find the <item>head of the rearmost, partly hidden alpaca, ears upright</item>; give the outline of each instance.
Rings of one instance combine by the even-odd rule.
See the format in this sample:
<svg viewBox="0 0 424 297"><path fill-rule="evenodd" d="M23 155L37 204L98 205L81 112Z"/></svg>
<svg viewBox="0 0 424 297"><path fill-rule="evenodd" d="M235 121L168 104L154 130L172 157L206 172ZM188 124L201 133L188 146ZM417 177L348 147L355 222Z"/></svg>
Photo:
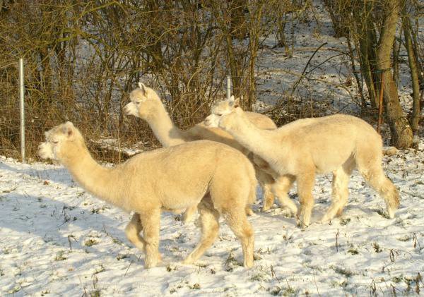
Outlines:
<svg viewBox="0 0 424 297"><path fill-rule="evenodd" d="M143 83L139 83L139 88L129 93L129 99L131 102L124 107L125 114L144 120L155 115L158 106L162 105L156 92Z"/></svg>

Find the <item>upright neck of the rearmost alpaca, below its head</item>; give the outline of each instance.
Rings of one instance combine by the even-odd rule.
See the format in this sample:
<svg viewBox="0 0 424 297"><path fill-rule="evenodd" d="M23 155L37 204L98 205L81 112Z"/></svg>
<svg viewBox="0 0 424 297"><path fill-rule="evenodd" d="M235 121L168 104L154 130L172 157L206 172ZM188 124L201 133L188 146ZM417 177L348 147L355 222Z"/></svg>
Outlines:
<svg viewBox="0 0 424 297"><path fill-rule="evenodd" d="M158 102L160 102L160 99L158 99ZM158 104L155 113L149 115L146 121L148 121L148 125L163 147L185 143L183 131L172 123L169 114L167 114L161 102Z"/></svg>

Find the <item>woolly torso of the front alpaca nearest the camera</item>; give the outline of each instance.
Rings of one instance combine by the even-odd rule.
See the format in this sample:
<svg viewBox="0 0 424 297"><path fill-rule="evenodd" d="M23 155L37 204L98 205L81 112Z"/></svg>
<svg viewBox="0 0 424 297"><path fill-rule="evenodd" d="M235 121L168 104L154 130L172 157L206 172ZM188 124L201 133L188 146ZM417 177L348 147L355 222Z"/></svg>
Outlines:
<svg viewBox="0 0 424 297"><path fill-rule="evenodd" d="M222 190L231 188L228 183L256 185L256 180L251 181L254 171L245 177L245 170L240 171L243 166L253 170L241 152L222 143L199 140L138 154L122 164L122 169L134 174L129 185L134 189L131 200L146 203L159 199L163 207L174 210L196 205L211 183Z"/></svg>

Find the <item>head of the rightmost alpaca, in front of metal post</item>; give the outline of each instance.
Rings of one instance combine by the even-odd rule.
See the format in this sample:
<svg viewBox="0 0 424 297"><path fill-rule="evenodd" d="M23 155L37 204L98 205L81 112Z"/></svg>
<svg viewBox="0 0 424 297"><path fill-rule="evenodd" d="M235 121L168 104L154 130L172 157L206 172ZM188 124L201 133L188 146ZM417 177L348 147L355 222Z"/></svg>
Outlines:
<svg viewBox="0 0 424 297"><path fill-rule="evenodd" d="M235 99L231 96L230 99L216 102L211 108L211 114L209 114L204 123L208 127L220 127L225 129L228 126L228 115L234 113L239 107L240 99Z"/></svg>

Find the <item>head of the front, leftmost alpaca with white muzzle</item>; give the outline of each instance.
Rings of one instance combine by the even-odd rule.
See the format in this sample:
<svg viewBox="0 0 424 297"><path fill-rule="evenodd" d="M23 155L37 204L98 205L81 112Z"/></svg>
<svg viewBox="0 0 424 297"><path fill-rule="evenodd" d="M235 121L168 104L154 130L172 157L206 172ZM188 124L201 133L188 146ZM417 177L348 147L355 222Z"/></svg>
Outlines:
<svg viewBox="0 0 424 297"><path fill-rule="evenodd" d="M45 136L46 141L40 143L37 154L42 159L57 161L63 159L66 147L70 144L78 145L84 141L80 131L70 121L50 129Z"/></svg>

